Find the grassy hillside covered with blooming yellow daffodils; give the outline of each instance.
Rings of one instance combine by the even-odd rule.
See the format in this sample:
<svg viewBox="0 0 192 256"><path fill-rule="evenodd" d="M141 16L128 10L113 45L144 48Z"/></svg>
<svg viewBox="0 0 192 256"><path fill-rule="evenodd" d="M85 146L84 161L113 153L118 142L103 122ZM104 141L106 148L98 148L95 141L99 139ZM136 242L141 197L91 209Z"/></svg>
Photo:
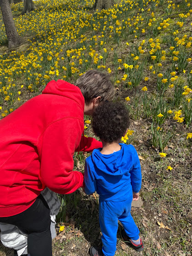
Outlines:
<svg viewBox="0 0 192 256"><path fill-rule="evenodd" d="M123 142L141 160L144 204L132 209L145 244L141 255L191 256L192 2L123 0L100 13L89 0L35 4L25 16L22 3L11 6L23 38L11 51L0 15L0 118L50 80L73 83L89 69L110 73L132 119ZM85 134L92 134L90 124ZM75 169L84 170L86 156L75 155ZM70 225L53 241L53 254L88 255L101 243L98 196L78 190L60 197L58 221ZM116 255L138 255L122 243L120 229Z"/></svg>

